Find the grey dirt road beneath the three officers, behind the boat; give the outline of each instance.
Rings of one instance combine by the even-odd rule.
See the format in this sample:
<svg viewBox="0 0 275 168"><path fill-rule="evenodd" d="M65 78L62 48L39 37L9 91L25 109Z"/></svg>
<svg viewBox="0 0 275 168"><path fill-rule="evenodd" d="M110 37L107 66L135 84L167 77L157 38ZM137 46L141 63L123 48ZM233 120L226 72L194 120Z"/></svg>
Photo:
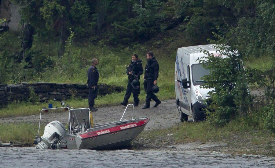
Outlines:
<svg viewBox="0 0 275 168"><path fill-rule="evenodd" d="M175 100L163 100L162 103L153 108L155 102L151 103L151 108L142 109L145 104L140 104L138 107L134 107L134 118L148 117L150 119L149 123L146 125L145 130L159 129L159 128L169 128L172 125L179 123L179 112L177 110ZM77 107L74 107L77 108ZM39 110L39 109L38 109ZM98 107L96 112L92 112L95 124L103 124L112 121L119 121L125 107L122 105L118 106L107 106ZM60 121L62 124L67 124L68 122L68 112L49 112L42 116L42 121L44 123L49 123L53 120ZM0 118L0 123L14 123L14 122L31 122L38 123L40 115L30 115L30 116L19 116L19 117L5 117ZM125 119L130 119L132 117L132 106L127 108Z"/></svg>

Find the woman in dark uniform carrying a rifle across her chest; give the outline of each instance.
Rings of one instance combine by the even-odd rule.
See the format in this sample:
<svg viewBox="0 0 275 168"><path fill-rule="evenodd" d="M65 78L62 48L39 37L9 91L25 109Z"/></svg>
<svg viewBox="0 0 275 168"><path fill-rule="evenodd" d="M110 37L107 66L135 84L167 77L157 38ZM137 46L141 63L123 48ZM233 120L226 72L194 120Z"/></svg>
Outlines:
<svg viewBox="0 0 275 168"><path fill-rule="evenodd" d="M123 102L121 102L120 104L122 104L123 106L127 106L131 93L133 93L134 106L138 106L138 95L140 93L139 79L140 75L143 74L143 68L141 60L138 59L137 54L132 55L131 64L127 67L126 74L128 75L128 84Z"/></svg>

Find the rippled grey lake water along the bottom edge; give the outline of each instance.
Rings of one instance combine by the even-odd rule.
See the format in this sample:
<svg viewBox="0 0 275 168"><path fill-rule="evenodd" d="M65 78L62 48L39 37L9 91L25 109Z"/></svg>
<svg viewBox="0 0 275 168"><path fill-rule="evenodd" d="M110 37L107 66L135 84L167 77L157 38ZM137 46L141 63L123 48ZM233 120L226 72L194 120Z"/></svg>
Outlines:
<svg viewBox="0 0 275 168"><path fill-rule="evenodd" d="M0 148L0 167L275 167L275 158L166 150Z"/></svg>

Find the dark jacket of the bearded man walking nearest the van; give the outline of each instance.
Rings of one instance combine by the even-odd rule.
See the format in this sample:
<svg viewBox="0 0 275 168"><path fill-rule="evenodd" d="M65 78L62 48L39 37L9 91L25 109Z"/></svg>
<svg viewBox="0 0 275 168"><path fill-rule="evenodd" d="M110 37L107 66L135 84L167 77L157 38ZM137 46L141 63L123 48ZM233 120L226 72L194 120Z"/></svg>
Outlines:
<svg viewBox="0 0 275 168"><path fill-rule="evenodd" d="M159 63L155 57L147 60L147 64L145 66L145 79L154 79L157 80L159 77Z"/></svg>

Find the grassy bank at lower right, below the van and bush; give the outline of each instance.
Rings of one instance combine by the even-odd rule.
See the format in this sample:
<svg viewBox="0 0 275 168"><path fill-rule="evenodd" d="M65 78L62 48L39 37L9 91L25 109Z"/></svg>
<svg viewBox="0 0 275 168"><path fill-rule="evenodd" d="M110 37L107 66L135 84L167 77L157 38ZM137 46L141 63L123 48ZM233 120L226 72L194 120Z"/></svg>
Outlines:
<svg viewBox="0 0 275 168"><path fill-rule="evenodd" d="M207 121L198 123L183 122L168 129L143 131L138 138L151 141L165 141L167 136L173 136L176 144L200 142L224 142L228 147L217 150L229 154L254 154L275 156L273 134L268 131L243 127L242 121L232 121L224 127L216 127Z"/></svg>

